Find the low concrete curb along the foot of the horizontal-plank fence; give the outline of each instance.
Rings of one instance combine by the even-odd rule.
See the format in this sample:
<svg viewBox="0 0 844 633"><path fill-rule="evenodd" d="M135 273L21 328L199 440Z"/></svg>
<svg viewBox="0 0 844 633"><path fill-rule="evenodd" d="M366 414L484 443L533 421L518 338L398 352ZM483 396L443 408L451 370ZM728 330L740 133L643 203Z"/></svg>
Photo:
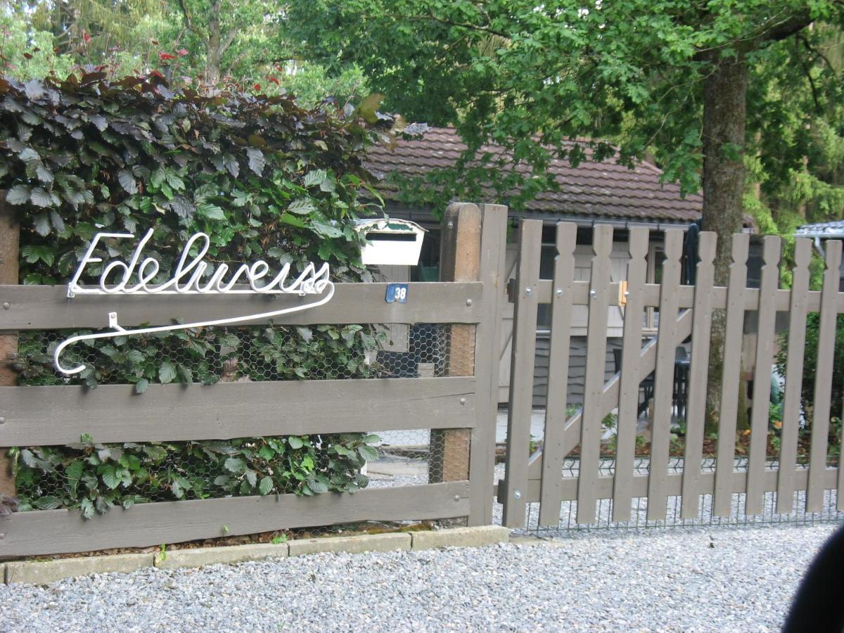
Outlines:
<svg viewBox="0 0 844 633"><path fill-rule="evenodd" d="M0 581L7 584L30 582L46 584L65 578L128 572L143 567L172 570L183 567L239 563L246 560L265 560L317 554L320 552L387 552L407 549L432 549L443 547L480 547L506 543L510 530L506 527L452 527L435 532L360 534L356 536L303 538L278 545L257 543L208 547L200 549L174 549L163 553L116 554L66 558L57 560L25 560L0 564Z"/></svg>

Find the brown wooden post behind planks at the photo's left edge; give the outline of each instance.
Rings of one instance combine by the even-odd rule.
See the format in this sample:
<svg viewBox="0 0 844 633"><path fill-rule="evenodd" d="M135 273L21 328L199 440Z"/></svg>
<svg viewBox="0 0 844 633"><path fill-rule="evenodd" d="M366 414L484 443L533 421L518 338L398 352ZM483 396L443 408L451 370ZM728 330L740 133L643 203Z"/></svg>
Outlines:
<svg viewBox="0 0 844 633"><path fill-rule="evenodd" d="M0 285L18 283L20 227L14 208L6 204L6 192L0 192ZM0 314L11 307L0 296ZM2 323L2 321L0 321ZM0 386L14 387L18 376L11 367L18 355L18 333L0 329ZM5 419L0 418L0 424ZM14 496L14 473L6 449L0 449L0 494Z"/></svg>

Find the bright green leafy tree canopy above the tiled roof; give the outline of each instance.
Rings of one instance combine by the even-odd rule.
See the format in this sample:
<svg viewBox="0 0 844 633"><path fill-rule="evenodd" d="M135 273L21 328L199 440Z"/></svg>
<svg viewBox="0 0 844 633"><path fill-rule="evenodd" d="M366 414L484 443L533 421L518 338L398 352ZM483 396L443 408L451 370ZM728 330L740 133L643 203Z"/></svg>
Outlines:
<svg viewBox="0 0 844 633"><path fill-rule="evenodd" d="M597 139L598 158L652 157L684 192L698 190L707 80L739 67L726 83L746 81L746 133L742 125L742 138L709 151L740 172L747 150L749 176L776 197L749 210L773 221L771 208L805 207L807 198L810 215L841 208L831 172L840 162L842 8L833 0L294 0L284 26L311 59L335 70L360 65L387 109L456 125L470 154L486 141L511 149L533 167L509 197L514 206L555 187L544 175L551 156L582 160L580 145L565 144L574 137ZM728 122L744 122L736 106L727 100ZM479 177L512 192L512 170L488 165L483 175L458 168L446 195ZM799 194L784 191L797 185Z"/></svg>

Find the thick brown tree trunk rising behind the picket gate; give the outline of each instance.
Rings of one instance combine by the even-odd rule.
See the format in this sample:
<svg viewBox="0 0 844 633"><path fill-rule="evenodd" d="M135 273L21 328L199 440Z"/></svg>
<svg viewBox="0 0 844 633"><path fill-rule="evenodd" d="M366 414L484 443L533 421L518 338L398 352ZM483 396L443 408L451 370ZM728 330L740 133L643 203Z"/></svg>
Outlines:
<svg viewBox="0 0 844 633"><path fill-rule="evenodd" d="M747 63L744 55L718 59L704 81L703 101L703 230L718 236L715 283L727 285L731 235L742 229L744 193L744 124L747 114ZM725 314L712 315L706 432L717 430Z"/></svg>

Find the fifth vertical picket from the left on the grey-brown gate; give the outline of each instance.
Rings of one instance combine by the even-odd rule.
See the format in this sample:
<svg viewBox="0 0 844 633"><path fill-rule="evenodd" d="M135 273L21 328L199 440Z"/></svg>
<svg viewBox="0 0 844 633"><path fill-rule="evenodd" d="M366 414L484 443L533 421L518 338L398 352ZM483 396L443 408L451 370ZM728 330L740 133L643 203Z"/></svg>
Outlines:
<svg viewBox="0 0 844 633"><path fill-rule="evenodd" d="M653 426L651 436L651 468L647 488L647 519L665 518L668 477L668 441L671 436L671 409L674 395L674 350L677 335L680 256L683 254L683 231L665 231L663 289L659 300L659 332L657 333L657 371L654 377Z"/></svg>

